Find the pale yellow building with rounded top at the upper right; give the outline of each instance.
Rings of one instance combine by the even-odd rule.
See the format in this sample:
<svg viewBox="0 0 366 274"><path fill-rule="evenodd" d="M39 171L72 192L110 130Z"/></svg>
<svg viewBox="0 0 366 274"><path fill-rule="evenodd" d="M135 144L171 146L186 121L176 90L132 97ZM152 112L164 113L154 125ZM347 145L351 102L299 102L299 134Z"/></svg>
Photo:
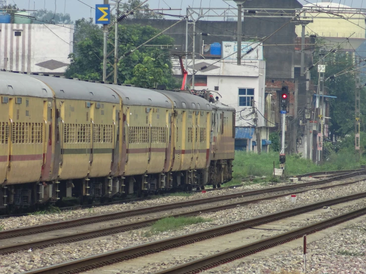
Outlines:
<svg viewBox="0 0 366 274"><path fill-rule="evenodd" d="M331 47L355 50L366 40L366 10L355 9L332 2L317 2L304 5L302 16L313 20L305 28L306 36L315 34L323 37ZM301 25L296 27L296 34L301 37ZM349 38L349 42L344 42Z"/></svg>

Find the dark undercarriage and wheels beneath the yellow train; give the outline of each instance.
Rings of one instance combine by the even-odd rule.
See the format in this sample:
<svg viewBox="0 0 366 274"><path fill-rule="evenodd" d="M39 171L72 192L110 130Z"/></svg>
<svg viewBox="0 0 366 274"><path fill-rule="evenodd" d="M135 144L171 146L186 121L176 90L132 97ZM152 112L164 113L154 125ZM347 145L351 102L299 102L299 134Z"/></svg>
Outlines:
<svg viewBox="0 0 366 274"><path fill-rule="evenodd" d="M208 169L144 174L126 177L101 177L53 182L2 184L0 211L20 212L42 205L91 204L122 199L131 195L141 197L169 190L191 191L213 188L231 180L232 160L211 161Z"/></svg>

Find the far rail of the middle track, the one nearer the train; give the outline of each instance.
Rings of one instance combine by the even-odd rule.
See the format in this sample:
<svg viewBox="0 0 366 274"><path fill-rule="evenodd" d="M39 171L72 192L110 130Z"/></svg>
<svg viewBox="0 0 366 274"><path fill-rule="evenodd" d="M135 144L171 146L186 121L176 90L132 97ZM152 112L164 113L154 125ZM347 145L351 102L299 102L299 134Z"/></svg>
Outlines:
<svg viewBox="0 0 366 274"><path fill-rule="evenodd" d="M204 198L204 199L187 200L187 201L172 203L172 204L162 204L162 205L157 205L157 206L152 206L152 207L137 208L137 209L127 210L127 211L113 212L113 213L108 213L108 214L103 214L103 215L84 217L84 218L79 218L79 219L49 223L49 224L44 224L44 225L32 226L32 227L7 229L7 230L0 231L0 240L12 238L12 237L19 237L19 236L37 234L37 233L42 233L42 232L48 232L48 231L53 231L53 230L59 230L59 229L64 229L64 228L74 228L74 227L79 227L79 226L83 226L83 225L96 224L96 223L100 223L100 222L112 221L112 220L122 219L122 218L126 218L126 217L133 217L133 216L138 216L138 215L143 215L143 214L156 213L156 212L166 211L166 210L173 210L173 209L177 209L177 208L184 208L184 207L202 205L202 204L207 204L207 203L212 203L212 202L225 201L225 200L230 200L230 199L234 199L234 198L238 198L238 197L246 197L246 196L258 195L258 194L264 194L264 193L284 191L284 190L289 190L289 189L294 189L294 188L301 188L301 187L325 184L325 183L330 183L333 181L356 177L361 174L366 174L366 171L364 170L361 172L354 172L354 173L340 175L340 176L327 178L327 179L319 180L319 181L313 181L313 182L307 182L307 183L297 183L296 185L290 184L290 185L283 185L283 186L276 186L276 187L261 188L261 189L251 190L251 191L243 191L243 192L226 194L226 195L219 196L219 197L213 196L213 197ZM338 185L358 183L358 182L361 182L364 180L365 180L365 178L362 177L357 180L354 180L351 182L346 182L346 183L341 183ZM289 194L289 193L287 193L287 194Z"/></svg>

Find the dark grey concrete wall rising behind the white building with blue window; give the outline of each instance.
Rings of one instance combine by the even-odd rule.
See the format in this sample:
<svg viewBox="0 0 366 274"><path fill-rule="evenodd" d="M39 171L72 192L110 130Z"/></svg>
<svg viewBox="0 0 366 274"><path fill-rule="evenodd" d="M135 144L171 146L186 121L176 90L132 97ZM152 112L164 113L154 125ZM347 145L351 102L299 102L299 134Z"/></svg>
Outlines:
<svg viewBox="0 0 366 274"><path fill-rule="evenodd" d="M278 1L275 1L278 2ZM297 2L297 1L296 1ZM287 8L287 7L286 7ZM286 22L288 18L268 18L261 20L260 18L246 17L242 22L242 33L246 38L244 41L258 40L267 37L278 30ZM165 29L172 25L176 20L149 20L149 19L130 19L123 21L124 24L142 24L150 25L157 29ZM223 22L223 21L206 21L201 20L196 23L197 33L209 33L211 36L202 37L196 36L196 52L202 54L203 44L208 45L212 43L222 43L223 41L236 41L237 22ZM192 25L188 29L188 51L192 52ZM177 49L185 51L186 40L186 22L183 21L173 28L165 32L174 38ZM225 35L225 36L221 36ZM229 35L229 36L228 36ZM265 46L276 44L295 44L295 24L287 24L284 28L278 31L275 35L264 42L264 59L266 61L266 75L267 77L292 78L293 66L295 62L294 46ZM299 64L300 65L300 64Z"/></svg>

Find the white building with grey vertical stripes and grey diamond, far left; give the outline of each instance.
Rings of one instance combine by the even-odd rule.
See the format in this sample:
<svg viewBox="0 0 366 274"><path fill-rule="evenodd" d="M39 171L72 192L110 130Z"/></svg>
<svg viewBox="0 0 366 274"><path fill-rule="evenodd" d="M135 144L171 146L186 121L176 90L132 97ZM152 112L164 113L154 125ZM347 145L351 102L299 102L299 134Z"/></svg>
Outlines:
<svg viewBox="0 0 366 274"><path fill-rule="evenodd" d="M74 25L0 24L0 69L61 74L73 36Z"/></svg>

